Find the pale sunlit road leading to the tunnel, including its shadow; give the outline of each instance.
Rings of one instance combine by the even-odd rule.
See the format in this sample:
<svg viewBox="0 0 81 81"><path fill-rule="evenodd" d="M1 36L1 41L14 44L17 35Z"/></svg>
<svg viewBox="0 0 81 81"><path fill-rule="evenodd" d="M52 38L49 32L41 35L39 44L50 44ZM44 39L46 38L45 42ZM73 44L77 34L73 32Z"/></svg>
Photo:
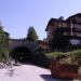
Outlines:
<svg viewBox="0 0 81 81"><path fill-rule="evenodd" d="M50 70L32 65L0 69L0 81L63 81L52 78ZM70 80L65 80L70 81Z"/></svg>

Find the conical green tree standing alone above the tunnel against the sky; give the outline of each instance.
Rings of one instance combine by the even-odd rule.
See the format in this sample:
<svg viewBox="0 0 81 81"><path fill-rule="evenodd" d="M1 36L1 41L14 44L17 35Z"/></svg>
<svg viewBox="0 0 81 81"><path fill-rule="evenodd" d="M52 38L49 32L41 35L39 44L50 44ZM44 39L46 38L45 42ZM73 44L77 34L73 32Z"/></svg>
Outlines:
<svg viewBox="0 0 81 81"><path fill-rule="evenodd" d="M36 32L36 30L35 30L33 27L29 27L28 35L27 35L27 39L29 41L32 41L32 42L35 42L35 41L38 40L38 35L37 35L37 32Z"/></svg>

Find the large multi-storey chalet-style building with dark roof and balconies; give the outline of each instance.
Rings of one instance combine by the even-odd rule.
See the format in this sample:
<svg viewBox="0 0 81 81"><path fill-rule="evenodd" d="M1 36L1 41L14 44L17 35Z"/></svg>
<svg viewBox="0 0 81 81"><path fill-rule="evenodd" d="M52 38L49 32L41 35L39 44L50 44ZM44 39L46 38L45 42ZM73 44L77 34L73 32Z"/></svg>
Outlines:
<svg viewBox="0 0 81 81"><path fill-rule="evenodd" d="M81 48L81 13L64 19L51 18L46 26L46 40L54 50L72 50ZM53 46L52 46L53 45Z"/></svg>

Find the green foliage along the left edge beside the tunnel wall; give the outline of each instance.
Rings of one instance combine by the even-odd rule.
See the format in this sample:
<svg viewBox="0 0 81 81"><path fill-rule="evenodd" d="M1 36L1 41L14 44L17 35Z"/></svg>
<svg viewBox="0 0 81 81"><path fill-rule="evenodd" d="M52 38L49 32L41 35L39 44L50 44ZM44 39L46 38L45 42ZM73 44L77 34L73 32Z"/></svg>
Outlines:
<svg viewBox="0 0 81 81"><path fill-rule="evenodd" d="M0 26L0 62L5 62L9 57L9 37L4 35L2 27Z"/></svg>

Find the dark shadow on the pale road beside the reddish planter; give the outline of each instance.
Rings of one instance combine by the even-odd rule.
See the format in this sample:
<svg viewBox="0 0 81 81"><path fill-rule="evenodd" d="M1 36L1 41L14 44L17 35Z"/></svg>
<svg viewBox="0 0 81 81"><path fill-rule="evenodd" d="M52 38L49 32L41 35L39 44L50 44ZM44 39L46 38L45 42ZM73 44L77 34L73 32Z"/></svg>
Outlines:
<svg viewBox="0 0 81 81"><path fill-rule="evenodd" d="M41 78L44 79L44 81L72 81L72 80L62 80L53 78L51 75L40 75Z"/></svg>

